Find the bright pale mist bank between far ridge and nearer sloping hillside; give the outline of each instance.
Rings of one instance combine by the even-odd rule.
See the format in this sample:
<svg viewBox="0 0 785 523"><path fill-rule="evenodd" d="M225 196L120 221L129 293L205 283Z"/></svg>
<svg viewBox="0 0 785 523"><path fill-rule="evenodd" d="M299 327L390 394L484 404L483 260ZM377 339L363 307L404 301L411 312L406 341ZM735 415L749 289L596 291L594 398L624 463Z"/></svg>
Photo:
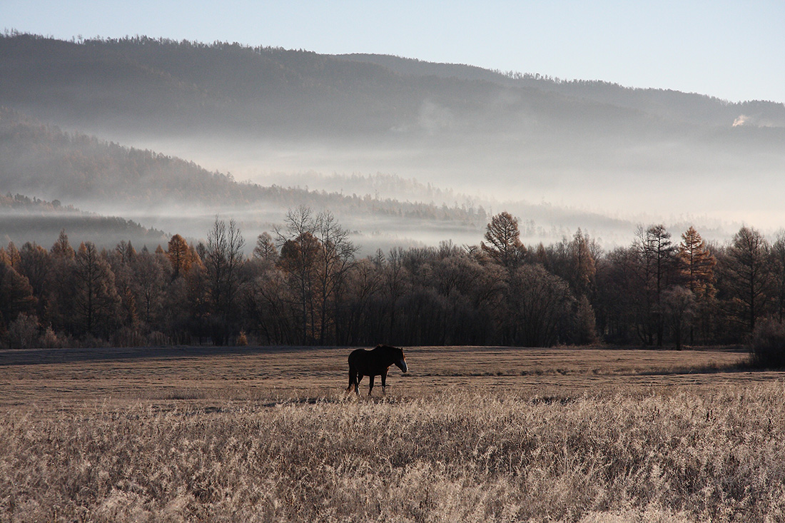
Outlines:
<svg viewBox="0 0 785 523"><path fill-rule="evenodd" d="M615 149L566 144L561 152L559 144L512 139L466 148L221 136L129 141L261 185L520 212L545 229L539 236L581 227L615 244L646 222L689 222L726 237L740 223L785 226L778 196L785 156L718 154L697 138Z"/></svg>

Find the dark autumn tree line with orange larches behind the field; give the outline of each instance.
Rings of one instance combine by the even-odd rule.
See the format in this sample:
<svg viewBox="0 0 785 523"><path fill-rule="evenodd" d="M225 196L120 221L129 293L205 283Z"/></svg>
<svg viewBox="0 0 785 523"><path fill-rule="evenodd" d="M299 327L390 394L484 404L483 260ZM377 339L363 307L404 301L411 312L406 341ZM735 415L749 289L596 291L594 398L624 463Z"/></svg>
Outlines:
<svg viewBox="0 0 785 523"><path fill-rule="evenodd" d="M250 247L250 246L249 246ZM640 227L602 251L580 229L545 246L517 218L483 240L358 257L329 212L290 210L250 256L235 221L205 242L0 248L0 341L31 346L170 344L675 347L743 342L785 316L785 234L742 227L725 245L690 227Z"/></svg>

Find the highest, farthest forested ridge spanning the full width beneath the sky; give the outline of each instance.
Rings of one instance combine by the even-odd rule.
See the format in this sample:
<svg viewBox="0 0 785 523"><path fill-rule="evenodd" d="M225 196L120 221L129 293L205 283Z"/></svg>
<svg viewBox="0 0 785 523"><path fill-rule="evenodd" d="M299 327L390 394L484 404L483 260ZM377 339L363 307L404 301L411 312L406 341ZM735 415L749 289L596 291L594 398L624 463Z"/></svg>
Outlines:
<svg viewBox="0 0 785 523"><path fill-rule="evenodd" d="M388 133L413 129L422 101L449 108L464 126L516 127L540 115L575 125L592 117L659 125L785 126L785 105L608 82L560 81L458 64L369 54L319 55L217 42L147 37L64 42L0 38L0 101L41 116L106 125L182 126L264 133ZM522 125L523 124L523 125ZM667 125L666 125L667 126ZM422 130L422 129L421 129ZM190 129L189 131L199 131ZM427 129L426 129L427 131Z"/></svg>

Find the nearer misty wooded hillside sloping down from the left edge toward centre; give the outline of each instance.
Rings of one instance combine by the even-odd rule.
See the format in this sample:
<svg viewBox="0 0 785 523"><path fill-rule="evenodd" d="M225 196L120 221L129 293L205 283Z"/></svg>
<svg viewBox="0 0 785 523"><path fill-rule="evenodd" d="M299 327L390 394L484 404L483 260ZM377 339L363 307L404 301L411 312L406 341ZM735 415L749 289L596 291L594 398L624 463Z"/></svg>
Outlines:
<svg viewBox="0 0 785 523"><path fill-rule="evenodd" d="M239 183L231 174L210 172L184 159L82 133L65 133L4 108L0 108L0 188L70 202L103 201L120 208L198 205L218 210L259 204L284 208L312 205L436 220L474 222L487 218L476 208Z"/></svg>

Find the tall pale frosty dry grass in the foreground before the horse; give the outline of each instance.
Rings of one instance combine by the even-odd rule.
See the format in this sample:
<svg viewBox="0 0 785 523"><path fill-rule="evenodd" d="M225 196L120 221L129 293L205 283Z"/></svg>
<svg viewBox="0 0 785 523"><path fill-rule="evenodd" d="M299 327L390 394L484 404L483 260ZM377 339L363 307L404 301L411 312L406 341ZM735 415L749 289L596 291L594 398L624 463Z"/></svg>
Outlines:
<svg viewBox="0 0 785 523"><path fill-rule="evenodd" d="M785 385L0 416L2 521L785 521Z"/></svg>

